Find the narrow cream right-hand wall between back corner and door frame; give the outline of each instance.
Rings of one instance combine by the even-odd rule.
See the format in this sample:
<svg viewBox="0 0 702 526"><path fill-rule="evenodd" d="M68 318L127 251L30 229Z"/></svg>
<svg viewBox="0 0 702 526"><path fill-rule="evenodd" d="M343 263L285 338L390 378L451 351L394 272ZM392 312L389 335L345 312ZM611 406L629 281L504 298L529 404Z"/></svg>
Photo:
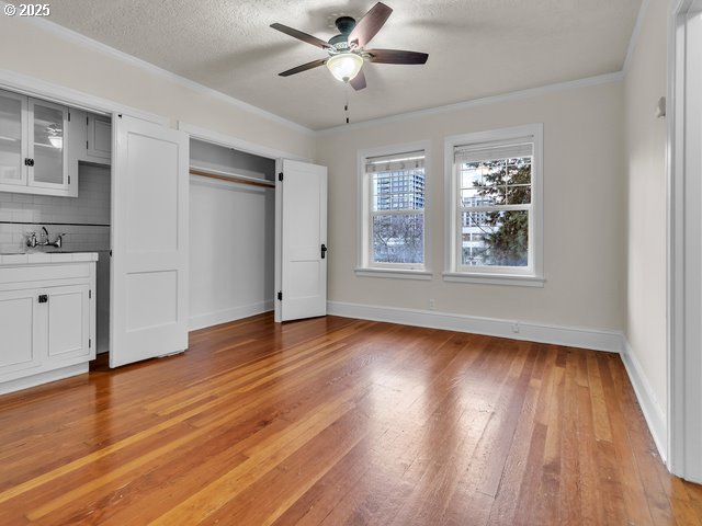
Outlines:
<svg viewBox="0 0 702 526"><path fill-rule="evenodd" d="M655 108L666 94L669 2L653 0L625 76L627 297L625 334L633 365L650 399L649 423L665 438L666 359L666 119ZM646 410L647 403L642 405ZM654 421L650 421L650 418ZM656 421L658 423L656 424ZM664 447L665 449L665 447Z"/></svg>

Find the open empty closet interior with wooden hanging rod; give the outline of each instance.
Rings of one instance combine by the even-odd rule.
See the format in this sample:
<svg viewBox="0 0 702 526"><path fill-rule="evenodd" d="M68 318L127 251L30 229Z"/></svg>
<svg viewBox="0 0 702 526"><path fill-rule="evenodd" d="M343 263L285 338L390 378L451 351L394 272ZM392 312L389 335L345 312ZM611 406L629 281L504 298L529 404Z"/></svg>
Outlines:
<svg viewBox="0 0 702 526"><path fill-rule="evenodd" d="M190 139L190 330L274 308L275 159Z"/></svg>

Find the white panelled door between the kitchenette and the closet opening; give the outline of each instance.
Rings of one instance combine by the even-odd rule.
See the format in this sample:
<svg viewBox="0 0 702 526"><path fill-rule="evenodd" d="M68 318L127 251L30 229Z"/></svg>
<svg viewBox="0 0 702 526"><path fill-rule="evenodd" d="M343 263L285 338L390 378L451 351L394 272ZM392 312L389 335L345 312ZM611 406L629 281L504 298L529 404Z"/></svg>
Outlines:
<svg viewBox="0 0 702 526"><path fill-rule="evenodd" d="M188 347L188 162L183 132L113 116L110 366Z"/></svg>

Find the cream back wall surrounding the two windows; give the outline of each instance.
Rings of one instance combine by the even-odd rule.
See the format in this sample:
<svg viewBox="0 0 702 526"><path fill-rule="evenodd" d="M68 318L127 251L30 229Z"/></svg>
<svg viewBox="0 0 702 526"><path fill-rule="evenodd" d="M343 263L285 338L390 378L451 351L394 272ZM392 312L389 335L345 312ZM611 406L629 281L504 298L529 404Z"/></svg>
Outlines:
<svg viewBox="0 0 702 526"><path fill-rule="evenodd" d="M618 331L625 319L621 81L322 136L329 167L329 299ZM449 135L544 123L543 288L445 283L444 160ZM428 139L429 282L356 277L356 151Z"/></svg>

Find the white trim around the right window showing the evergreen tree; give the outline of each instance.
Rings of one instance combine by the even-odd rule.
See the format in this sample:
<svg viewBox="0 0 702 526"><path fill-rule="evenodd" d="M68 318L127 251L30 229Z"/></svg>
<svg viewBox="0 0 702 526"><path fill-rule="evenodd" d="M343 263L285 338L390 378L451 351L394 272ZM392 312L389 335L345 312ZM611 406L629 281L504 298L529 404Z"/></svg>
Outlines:
<svg viewBox="0 0 702 526"><path fill-rule="evenodd" d="M478 142L509 141L533 137L531 217L529 221L530 266L482 266L465 271L458 265L457 174L454 148ZM480 283L487 285L518 285L539 287L545 278L543 272L543 123L498 128L472 134L453 135L444 139L444 282ZM523 207L523 205L520 205Z"/></svg>

